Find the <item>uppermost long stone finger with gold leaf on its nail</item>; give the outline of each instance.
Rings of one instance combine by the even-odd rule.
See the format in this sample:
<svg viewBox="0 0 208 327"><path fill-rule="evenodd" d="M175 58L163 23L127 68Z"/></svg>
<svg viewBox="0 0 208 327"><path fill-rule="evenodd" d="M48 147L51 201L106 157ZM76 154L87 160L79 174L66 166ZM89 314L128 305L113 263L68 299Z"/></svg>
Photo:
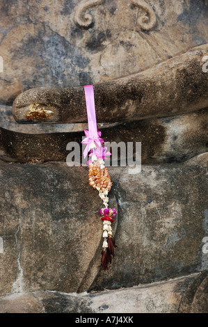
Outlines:
<svg viewBox="0 0 208 327"><path fill-rule="evenodd" d="M95 84L97 122L127 122L208 107L208 44L144 72ZM83 87L33 88L13 103L17 122L87 122Z"/></svg>

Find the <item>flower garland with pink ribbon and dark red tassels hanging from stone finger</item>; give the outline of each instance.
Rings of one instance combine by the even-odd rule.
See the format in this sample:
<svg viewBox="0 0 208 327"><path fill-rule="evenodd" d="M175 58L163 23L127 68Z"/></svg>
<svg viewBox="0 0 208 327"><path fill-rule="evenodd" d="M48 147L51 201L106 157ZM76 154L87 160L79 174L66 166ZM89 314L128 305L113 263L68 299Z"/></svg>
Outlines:
<svg viewBox="0 0 208 327"><path fill-rule="evenodd" d="M106 156L110 156L111 152L107 151L107 148L102 146L104 140L101 138L101 131L97 129L93 85L84 86L84 91L88 113L88 131L84 130L86 138L84 138L81 143L86 144L83 157L86 158L88 152L90 152L90 159L88 160L89 184L93 186L93 189L97 189L99 197L104 204L104 208L99 210L99 214L102 216L102 236L104 237L101 265L104 271L106 271L108 265L111 264L112 256L114 257L114 248L118 247L115 245L115 239L111 228L111 223L114 221L113 218L116 216L116 210L109 208L108 197L113 183L111 182L109 170L105 167L104 163L104 159L106 159Z"/></svg>

